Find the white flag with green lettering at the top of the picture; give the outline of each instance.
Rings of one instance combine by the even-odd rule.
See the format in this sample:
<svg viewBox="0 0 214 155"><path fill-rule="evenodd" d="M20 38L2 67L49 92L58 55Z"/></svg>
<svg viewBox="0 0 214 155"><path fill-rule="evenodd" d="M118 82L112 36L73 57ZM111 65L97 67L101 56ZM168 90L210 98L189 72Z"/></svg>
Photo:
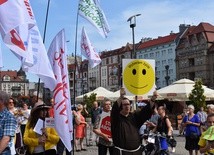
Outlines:
<svg viewBox="0 0 214 155"><path fill-rule="evenodd" d="M94 25L103 37L107 37L110 32L109 25L98 3L94 0L80 0L78 13Z"/></svg>

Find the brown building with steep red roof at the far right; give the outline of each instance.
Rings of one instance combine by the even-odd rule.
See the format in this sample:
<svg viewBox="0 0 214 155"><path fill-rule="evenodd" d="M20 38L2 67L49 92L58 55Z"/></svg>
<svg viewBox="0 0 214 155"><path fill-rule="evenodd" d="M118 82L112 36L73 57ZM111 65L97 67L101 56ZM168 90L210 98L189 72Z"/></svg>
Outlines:
<svg viewBox="0 0 214 155"><path fill-rule="evenodd" d="M177 79L201 79L204 85L214 88L213 43L213 25L200 23L187 28L176 48Z"/></svg>

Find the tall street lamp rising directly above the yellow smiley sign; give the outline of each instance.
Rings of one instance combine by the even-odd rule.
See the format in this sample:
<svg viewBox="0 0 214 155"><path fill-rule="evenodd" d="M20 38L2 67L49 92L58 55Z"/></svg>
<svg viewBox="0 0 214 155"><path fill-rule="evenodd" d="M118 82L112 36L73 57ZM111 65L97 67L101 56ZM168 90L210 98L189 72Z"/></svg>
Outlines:
<svg viewBox="0 0 214 155"><path fill-rule="evenodd" d="M129 19L127 20L127 22L130 22L130 28L132 28L132 39L133 39L133 54L131 53L131 59L132 58L136 58L136 53L135 53L135 39L134 39L134 28L136 27L136 17L140 16L141 14L136 14L133 15L131 17L129 17Z"/></svg>

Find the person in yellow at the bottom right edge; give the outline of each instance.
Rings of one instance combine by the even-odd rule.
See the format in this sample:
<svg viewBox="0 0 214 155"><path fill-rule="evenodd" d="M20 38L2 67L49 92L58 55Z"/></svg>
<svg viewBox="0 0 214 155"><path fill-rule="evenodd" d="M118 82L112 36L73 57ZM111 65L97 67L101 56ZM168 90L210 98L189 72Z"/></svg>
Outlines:
<svg viewBox="0 0 214 155"><path fill-rule="evenodd" d="M198 145L201 154L214 154L214 113L207 116L207 126L208 129L201 134Z"/></svg>

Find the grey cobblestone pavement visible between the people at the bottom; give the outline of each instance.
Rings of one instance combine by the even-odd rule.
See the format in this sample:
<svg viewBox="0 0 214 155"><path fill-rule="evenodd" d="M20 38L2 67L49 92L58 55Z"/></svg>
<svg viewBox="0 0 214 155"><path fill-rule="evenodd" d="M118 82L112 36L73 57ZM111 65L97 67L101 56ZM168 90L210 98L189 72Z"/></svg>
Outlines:
<svg viewBox="0 0 214 155"><path fill-rule="evenodd" d="M170 152L170 154L171 155L188 155L187 150L185 150L185 148L184 148L184 145L185 145L184 136L179 137L178 131L176 131L176 130L174 131L174 136L177 141L176 151L175 151L175 153ZM85 143L86 143L86 141L85 141ZM80 152L74 151L74 155L97 155L98 154L98 149L95 144L93 146L86 146L86 148L87 148L87 151L80 151Z"/></svg>

